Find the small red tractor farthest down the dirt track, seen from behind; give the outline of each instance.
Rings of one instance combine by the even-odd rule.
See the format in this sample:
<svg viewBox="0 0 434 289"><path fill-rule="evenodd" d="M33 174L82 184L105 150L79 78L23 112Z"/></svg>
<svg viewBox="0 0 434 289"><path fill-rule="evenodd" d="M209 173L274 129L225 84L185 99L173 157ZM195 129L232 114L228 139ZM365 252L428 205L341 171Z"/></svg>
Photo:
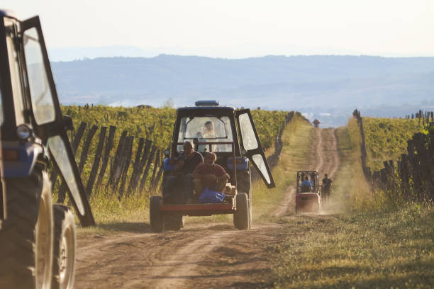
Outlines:
<svg viewBox="0 0 434 289"><path fill-rule="evenodd" d="M310 186L306 185L306 181ZM297 171L296 213L321 210L321 187L318 171Z"/></svg>

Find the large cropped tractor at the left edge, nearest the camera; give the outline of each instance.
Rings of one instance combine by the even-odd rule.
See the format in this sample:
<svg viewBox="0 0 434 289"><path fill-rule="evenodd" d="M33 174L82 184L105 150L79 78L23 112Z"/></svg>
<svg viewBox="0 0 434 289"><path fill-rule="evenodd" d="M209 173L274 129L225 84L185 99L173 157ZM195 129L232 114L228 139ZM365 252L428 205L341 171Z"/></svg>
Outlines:
<svg viewBox="0 0 434 289"><path fill-rule="evenodd" d="M83 226L94 225L62 116L39 18L0 11L0 288L72 288L74 215L52 205L54 164Z"/></svg>

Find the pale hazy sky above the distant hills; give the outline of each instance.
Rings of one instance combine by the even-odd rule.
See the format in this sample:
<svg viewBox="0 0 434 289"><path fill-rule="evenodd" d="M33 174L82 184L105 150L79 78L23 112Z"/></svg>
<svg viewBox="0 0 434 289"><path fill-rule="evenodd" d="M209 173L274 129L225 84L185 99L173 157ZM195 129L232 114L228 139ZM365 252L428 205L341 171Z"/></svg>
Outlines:
<svg viewBox="0 0 434 289"><path fill-rule="evenodd" d="M177 55L434 56L434 0L1 0L39 15L48 47Z"/></svg>

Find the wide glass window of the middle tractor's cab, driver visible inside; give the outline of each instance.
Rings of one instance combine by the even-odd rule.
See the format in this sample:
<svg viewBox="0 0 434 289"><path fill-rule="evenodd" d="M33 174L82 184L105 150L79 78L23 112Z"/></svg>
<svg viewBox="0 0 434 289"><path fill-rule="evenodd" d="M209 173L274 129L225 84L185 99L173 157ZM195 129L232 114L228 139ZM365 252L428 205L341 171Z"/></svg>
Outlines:
<svg viewBox="0 0 434 289"><path fill-rule="evenodd" d="M204 116L204 117L184 117L181 119L179 127L178 142L186 140L193 141L195 138L199 142L233 142L230 120L227 116ZM209 146L199 145L198 151L205 152ZM231 152L231 145L212 145L213 152ZM177 151L182 151L182 145L177 146Z"/></svg>

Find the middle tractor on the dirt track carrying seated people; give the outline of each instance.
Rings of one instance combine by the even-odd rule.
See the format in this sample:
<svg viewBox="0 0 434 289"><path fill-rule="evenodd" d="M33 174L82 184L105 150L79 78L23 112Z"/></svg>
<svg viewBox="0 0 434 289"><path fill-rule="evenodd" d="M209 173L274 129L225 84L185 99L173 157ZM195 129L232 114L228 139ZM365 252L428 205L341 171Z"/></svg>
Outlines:
<svg viewBox="0 0 434 289"><path fill-rule="evenodd" d="M204 133L204 125L213 127L213 135ZM192 203L182 200L182 183L174 191L150 198L150 227L153 232L180 229L184 216L210 216L233 214L237 229L249 229L252 222L252 189L250 166L255 167L268 188L274 180L265 158L249 109L235 110L220 106L216 101L196 101L196 106L177 109L171 149L164 161L162 188L167 186L175 171L186 140L194 143L196 152L214 152L216 164L230 175L221 203L197 203L201 192L195 192ZM181 199L181 201L177 201Z"/></svg>

